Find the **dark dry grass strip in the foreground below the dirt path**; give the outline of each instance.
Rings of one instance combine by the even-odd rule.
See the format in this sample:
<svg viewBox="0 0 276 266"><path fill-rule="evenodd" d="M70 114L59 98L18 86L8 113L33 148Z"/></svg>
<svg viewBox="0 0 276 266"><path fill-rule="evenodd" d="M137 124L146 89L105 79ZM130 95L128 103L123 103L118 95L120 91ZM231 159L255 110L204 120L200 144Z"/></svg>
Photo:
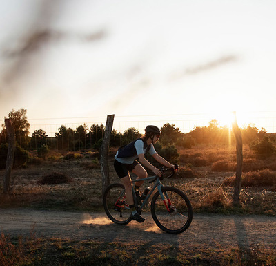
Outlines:
<svg viewBox="0 0 276 266"><path fill-rule="evenodd" d="M199 247L190 249L168 243L74 241L59 238L10 239L1 235L0 265L275 265L271 248Z"/></svg>

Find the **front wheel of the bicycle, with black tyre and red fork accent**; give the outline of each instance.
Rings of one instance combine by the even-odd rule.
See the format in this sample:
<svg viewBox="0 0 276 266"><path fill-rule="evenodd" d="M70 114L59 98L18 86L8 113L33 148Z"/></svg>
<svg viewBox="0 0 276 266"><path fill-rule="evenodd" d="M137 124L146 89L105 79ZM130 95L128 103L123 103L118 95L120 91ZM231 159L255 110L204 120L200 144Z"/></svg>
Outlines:
<svg viewBox="0 0 276 266"><path fill-rule="evenodd" d="M170 234L179 234L190 226L193 220L193 209L190 200L175 187L163 187L162 200L159 191L151 202L152 218L157 226Z"/></svg>

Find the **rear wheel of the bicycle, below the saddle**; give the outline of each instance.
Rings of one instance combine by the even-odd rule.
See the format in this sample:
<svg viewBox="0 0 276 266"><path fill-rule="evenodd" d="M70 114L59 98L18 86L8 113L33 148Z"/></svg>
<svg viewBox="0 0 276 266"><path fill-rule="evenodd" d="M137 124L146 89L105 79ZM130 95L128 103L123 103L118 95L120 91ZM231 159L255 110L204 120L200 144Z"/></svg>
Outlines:
<svg viewBox="0 0 276 266"><path fill-rule="evenodd" d="M132 220L131 211L126 203L124 184L110 184L103 193L103 207L112 222L127 225Z"/></svg>

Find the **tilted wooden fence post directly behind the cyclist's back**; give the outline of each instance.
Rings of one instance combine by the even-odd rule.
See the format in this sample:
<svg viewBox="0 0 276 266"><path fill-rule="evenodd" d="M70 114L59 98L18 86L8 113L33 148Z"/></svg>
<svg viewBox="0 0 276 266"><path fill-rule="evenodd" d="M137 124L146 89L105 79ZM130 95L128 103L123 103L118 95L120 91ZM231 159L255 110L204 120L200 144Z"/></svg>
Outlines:
<svg viewBox="0 0 276 266"><path fill-rule="evenodd" d="M101 182L102 182L102 193L106 190L109 185L109 168L108 168L108 147L110 142L110 135L112 131L114 121L114 115L108 115L106 119L106 130L104 132L103 144L101 144Z"/></svg>

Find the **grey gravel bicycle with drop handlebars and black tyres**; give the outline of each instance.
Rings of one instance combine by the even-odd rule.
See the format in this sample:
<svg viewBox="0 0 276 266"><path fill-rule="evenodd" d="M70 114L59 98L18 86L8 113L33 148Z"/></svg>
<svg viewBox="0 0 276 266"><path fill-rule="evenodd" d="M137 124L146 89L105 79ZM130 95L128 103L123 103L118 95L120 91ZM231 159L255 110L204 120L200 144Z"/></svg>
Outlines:
<svg viewBox="0 0 276 266"><path fill-rule="evenodd" d="M193 220L193 208L184 192L176 187L164 187L161 183L164 173L169 170L172 171L172 174L168 175L167 178L170 178L174 174L173 169L161 167L161 177L156 175L144 179L131 180L132 193L137 212L141 214L141 210L146 206L150 196L157 188L150 202L152 218L156 225L166 233L179 234L190 226ZM151 180L149 183L155 182L143 201L141 201L140 196L136 195L133 186L135 182L142 180ZM124 184L114 183L106 188L103 193L103 207L108 218L115 224L127 225L132 220L132 213L126 202Z"/></svg>

